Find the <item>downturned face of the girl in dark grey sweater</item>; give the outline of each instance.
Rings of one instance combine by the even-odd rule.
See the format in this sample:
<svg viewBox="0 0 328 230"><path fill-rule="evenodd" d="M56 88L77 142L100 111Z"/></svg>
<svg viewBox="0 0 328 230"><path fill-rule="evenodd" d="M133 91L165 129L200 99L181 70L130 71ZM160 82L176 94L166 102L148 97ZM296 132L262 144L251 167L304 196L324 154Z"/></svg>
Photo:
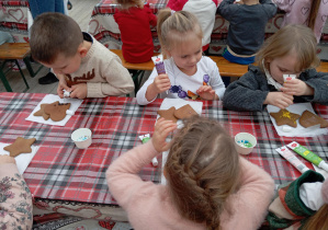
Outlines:
<svg viewBox="0 0 328 230"><path fill-rule="evenodd" d="M283 74L296 74L296 78L298 78L301 71L295 70L297 61L298 59L294 51L286 56L275 57L272 60L268 60L271 77L281 84L284 83Z"/></svg>

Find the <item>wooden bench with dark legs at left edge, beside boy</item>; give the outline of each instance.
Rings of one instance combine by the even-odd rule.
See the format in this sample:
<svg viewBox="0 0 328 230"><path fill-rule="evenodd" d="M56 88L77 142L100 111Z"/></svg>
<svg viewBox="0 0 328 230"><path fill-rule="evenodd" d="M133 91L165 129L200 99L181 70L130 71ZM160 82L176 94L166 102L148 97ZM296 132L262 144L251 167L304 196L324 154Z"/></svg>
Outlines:
<svg viewBox="0 0 328 230"><path fill-rule="evenodd" d="M41 66L38 68L38 70L34 72L34 70L31 66L31 62L30 62L30 55L31 55L31 48L30 48L29 43L4 43L0 46L0 60L4 60L0 66L0 79L8 92L12 92L12 89L5 78L5 73L10 70L10 69L8 69L4 71L5 62L14 61L15 65L19 67L20 73L21 73L21 76L24 80L24 83L26 85L25 91L29 90L30 87L27 84L25 76L24 76L18 60L22 59L25 62L31 77L35 77L36 73L39 71L39 69L43 67L43 66Z"/></svg>

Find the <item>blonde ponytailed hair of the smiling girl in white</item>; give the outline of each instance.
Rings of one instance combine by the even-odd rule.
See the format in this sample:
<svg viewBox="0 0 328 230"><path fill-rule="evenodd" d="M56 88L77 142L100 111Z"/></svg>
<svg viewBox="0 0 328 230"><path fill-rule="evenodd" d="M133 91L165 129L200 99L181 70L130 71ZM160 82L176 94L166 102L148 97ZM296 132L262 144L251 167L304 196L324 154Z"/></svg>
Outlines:
<svg viewBox="0 0 328 230"><path fill-rule="evenodd" d="M168 8L159 11L157 34L163 53L190 39L190 32L200 39L203 38L202 27L194 14L188 11L173 12Z"/></svg>

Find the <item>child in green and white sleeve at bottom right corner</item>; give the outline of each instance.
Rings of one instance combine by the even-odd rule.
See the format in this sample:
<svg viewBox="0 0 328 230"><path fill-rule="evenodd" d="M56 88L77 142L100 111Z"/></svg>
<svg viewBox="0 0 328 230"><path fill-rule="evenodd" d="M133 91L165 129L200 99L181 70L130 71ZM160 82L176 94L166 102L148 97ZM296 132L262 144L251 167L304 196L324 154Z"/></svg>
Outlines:
<svg viewBox="0 0 328 230"><path fill-rule="evenodd" d="M263 226L270 229L328 229L328 180L308 170L281 185Z"/></svg>

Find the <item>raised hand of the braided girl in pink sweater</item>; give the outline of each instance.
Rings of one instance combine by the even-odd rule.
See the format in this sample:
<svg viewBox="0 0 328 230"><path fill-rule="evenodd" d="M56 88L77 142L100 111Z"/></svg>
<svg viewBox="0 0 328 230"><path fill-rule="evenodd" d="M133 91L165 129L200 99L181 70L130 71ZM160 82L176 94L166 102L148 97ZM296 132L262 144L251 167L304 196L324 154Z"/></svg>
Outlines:
<svg viewBox="0 0 328 230"><path fill-rule="evenodd" d="M170 148L170 143L166 141L169 134L177 129L177 124L172 120L159 118L155 126L155 131L151 138L154 148L158 152L166 151Z"/></svg>

